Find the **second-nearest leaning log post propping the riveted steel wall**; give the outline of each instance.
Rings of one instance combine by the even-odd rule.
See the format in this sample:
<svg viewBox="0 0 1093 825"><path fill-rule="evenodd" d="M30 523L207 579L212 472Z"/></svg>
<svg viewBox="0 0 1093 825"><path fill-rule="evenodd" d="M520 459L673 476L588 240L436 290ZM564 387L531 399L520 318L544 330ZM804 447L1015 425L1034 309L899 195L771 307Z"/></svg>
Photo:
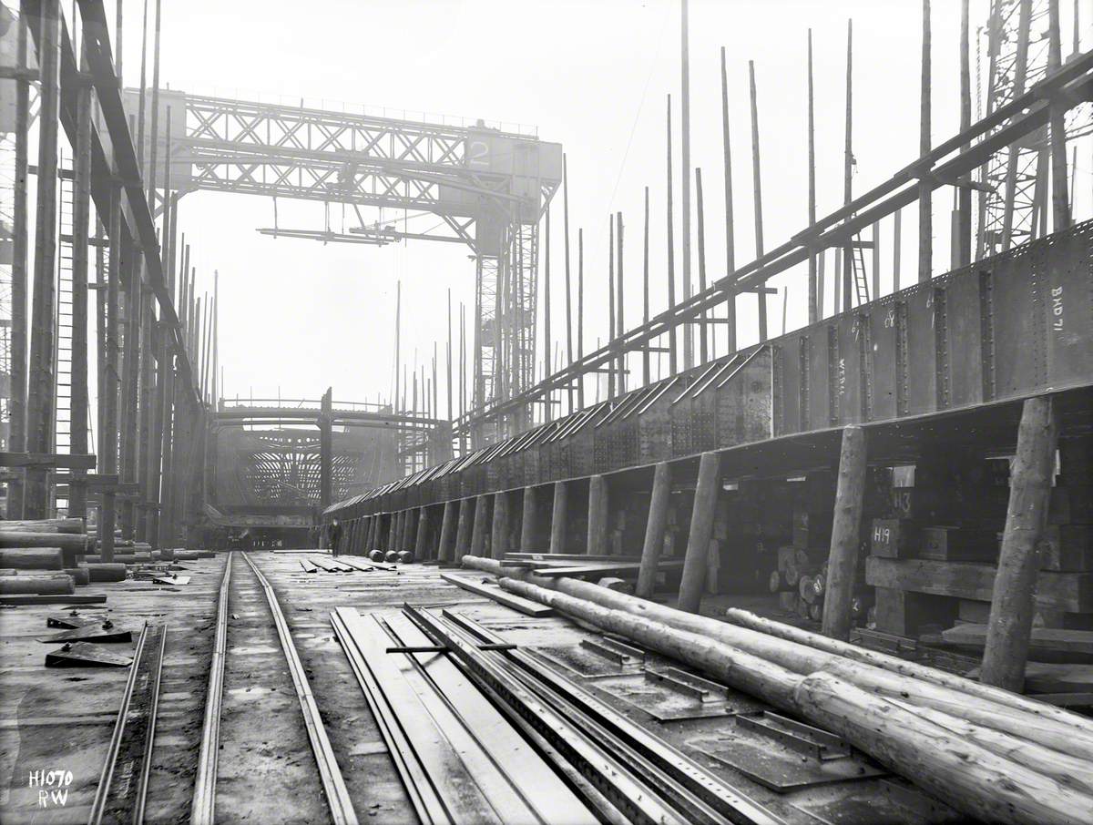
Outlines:
<svg viewBox="0 0 1093 825"><path fill-rule="evenodd" d="M835 517L827 557L827 594L823 603L824 635L843 641L850 637L850 602L858 567L865 490L866 432L861 427L846 427L838 457Z"/></svg>

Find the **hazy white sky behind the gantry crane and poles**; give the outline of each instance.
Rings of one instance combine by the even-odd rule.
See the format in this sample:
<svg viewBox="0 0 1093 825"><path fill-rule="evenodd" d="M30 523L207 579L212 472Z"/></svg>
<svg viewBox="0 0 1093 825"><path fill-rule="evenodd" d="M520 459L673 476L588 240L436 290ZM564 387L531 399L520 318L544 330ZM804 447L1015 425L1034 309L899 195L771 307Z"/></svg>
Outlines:
<svg viewBox="0 0 1093 825"><path fill-rule="evenodd" d="M764 234L771 248L807 222L808 28L813 30L815 51L823 215L843 197L848 19L854 20L855 190L890 177L918 154L920 5L920 0L692 0L692 163L705 178L710 279L725 271L719 48L728 51L737 261L743 263L754 251L748 60L755 61L757 78ZM1069 44L1070 3L1063 5L1063 42ZM163 7L162 82L172 89L251 99L304 96L309 103L325 98L334 108L344 101L519 121L537 125L544 140L561 142L569 164L574 256L577 227L585 227L586 236L586 350L607 330L610 211L622 210L627 224L626 271L633 284L626 292L627 327L640 316L642 198L643 187L650 186L654 310L663 308L669 92L677 128L680 243L679 0L168 0ZM987 0L973 0L973 33L985 23L987 7ZM127 0L125 9L126 82L134 85L140 4ZM1082 14L1088 27L1093 4L1086 0ZM933 137L939 142L957 126L959 0L935 0L932 17ZM1089 48L1088 40L1083 47ZM972 72L974 84L974 57ZM1088 156L1085 152L1079 161L1085 190ZM951 199L951 190L936 195L936 272L948 269ZM341 208L331 207L330 214L340 228ZM561 210L554 214L560 227ZM279 219L282 227L321 228L324 210L281 201ZM419 363L427 363L439 340L443 362L447 291L457 317L459 302L469 314L473 304L469 250L421 241L384 248L322 246L255 232L272 222L269 199L197 192L181 201L180 228L193 246L199 288L211 290L213 270L220 272L225 394L317 398L333 386L339 399L387 396L398 279L404 357L412 363L416 347ZM916 222L914 209L908 210L903 223L905 283L913 272ZM420 219L411 225L427 228L432 223ZM882 281L888 284L890 224L881 238ZM560 231L553 240L554 329L561 339ZM789 283L790 328L804 318L801 274L791 274L772 282L779 288ZM754 300L740 298L741 343L754 340ZM772 300L771 315L774 334L781 326L780 295Z"/></svg>

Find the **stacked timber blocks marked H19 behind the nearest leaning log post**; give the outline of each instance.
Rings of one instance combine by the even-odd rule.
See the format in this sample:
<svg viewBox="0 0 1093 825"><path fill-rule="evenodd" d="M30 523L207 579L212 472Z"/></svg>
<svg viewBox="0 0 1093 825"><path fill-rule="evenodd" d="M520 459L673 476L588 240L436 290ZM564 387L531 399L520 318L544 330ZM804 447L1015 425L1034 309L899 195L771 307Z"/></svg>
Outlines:
<svg viewBox="0 0 1093 825"><path fill-rule="evenodd" d="M1061 472L1039 543L1033 623L1088 630L1093 629L1093 479L1089 460L1068 461L1068 452L1074 450L1060 444ZM1009 503L1004 469L1004 461L989 461L980 462L978 472L964 467L921 473L914 486L892 487L884 512L863 519L870 526L867 578L875 587L878 630L945 639L950 628L986 624ZM948 638L967 640L975 633Z"/></svg>

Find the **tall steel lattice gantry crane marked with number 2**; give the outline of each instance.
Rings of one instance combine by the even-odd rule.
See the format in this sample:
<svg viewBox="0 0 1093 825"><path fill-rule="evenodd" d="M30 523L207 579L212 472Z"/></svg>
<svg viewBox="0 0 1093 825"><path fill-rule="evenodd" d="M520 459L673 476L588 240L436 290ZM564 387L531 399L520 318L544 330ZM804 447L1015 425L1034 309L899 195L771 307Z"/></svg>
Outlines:
<svg viewBox="0 0 1093 825"><path fill-rule="evenodd" d="M179 193L203 189L437 215L439 232L395 233L362 219L354 233L378 243L388 236L466 243L477 279L472 403L481 409L531 386L538 224L561 184L560 144L482 121L454 127L178 92L161 99L176 113L171 157ZM342 239L329 232L284 234ZM489 441L495 431L477 435Z"/></svg>

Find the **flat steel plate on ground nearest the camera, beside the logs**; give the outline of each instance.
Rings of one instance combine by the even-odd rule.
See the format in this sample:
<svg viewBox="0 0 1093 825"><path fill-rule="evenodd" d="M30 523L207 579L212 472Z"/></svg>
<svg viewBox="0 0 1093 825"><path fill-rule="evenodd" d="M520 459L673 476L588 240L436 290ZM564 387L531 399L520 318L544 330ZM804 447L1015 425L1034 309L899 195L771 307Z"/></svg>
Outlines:
<svg viewBox="0 0 1093 825"><path fill-rule="evenodd" d="M780 793L851 779L884 776L888 771L859 756L819 759L786 747L769 736L754 735L739 727L717 736L687 742L704 757L724 763L749 779Z"/></svg>

